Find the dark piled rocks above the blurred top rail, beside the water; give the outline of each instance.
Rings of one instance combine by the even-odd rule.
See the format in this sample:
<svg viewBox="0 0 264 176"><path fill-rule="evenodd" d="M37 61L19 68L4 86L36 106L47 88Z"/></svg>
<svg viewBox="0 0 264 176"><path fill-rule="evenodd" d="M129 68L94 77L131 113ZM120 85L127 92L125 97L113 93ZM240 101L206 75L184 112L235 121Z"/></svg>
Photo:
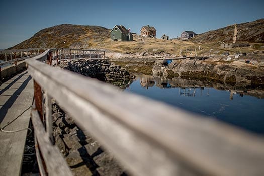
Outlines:
<svg viewBox="0 0 264 176"><path fill-rule="evenodd" d="M129 72L122 69L121 66L110 63L107 60L89 59L70 61L64 69L68 69L91 78L97 78L101 81L126 80L134 78L134 75L130 75Z"/></svg>

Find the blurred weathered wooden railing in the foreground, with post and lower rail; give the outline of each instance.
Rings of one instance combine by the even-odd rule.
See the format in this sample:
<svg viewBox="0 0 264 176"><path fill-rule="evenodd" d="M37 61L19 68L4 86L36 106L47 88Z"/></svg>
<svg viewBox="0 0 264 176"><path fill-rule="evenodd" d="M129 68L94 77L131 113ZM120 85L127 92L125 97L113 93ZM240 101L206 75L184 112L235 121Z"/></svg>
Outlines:
<svg viewBox="0 0 264 176"><path fill-rule="evenodd" d="M40 62L49 51L27 63L39 165L50 175L71 175L51 140L51 97L134 175L264 175L263 138Z"/></svg>

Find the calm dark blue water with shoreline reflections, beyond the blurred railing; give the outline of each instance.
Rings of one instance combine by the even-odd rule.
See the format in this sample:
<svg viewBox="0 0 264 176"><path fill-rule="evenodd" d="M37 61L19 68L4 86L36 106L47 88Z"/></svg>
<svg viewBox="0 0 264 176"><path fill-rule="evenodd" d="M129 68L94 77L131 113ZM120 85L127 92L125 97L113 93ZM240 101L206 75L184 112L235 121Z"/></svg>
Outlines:
<svg viewBox="0 0 264 176"><path fill-rule="evenodd" d="M215 88L213 88L215 87ZM264 90L138 75L125 91L264 135Z"/></svg>

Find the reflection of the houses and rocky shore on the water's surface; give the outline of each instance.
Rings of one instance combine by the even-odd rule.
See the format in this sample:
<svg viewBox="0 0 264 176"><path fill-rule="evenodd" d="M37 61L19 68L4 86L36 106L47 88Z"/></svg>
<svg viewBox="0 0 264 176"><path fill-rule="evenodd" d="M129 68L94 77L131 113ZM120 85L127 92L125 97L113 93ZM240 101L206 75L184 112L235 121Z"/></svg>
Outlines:
<svg viewBox="0 0 264 176"><path fill-rule="evenodd" d="M210 80L190 80L182 78L164 79L161 77L153 77L151 75L136 74L133 81L139 80L141 87L148 89L149 87L159 87L161 89L178 88L181 96L195 97L199 92L201 95L204 91L209 96L209 88L217 90L227 90L230 92L230 100L233 100L234 95L239 94L240 97L244 95L254 96L257 98L264 98L264 90L261 88L248 87L240 84L239 86L230 85L223 82L214 82ZM130 82L132 83L132 82ZM206 90L205 90L206 89Z"/></svg>

